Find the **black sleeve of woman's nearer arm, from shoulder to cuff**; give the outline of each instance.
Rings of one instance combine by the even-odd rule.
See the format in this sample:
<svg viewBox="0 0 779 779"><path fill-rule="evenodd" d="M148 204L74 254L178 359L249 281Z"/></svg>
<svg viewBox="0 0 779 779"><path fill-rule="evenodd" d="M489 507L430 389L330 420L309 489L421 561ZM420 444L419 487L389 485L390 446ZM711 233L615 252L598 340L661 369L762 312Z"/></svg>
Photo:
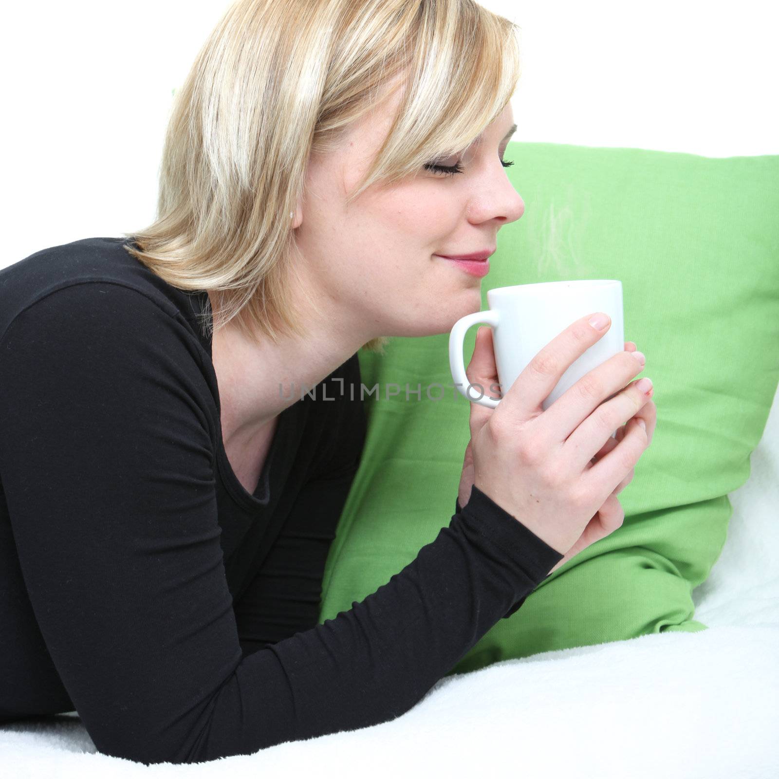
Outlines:
<svg viewBox="0 0 779 779"><path fill-rule="evenodd" d="M190 763L389 721L561 558L477 488L347 612L245 657L184 325L115 284L0 340L0 473L24 580L101 753Z"/></svg>

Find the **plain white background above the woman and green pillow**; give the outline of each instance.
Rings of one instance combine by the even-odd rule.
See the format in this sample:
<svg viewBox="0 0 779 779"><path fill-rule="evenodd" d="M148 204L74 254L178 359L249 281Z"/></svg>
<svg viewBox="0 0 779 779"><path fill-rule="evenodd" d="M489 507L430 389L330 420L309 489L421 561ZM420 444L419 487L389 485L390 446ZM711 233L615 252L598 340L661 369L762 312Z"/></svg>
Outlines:
<svg viewBox="0 0 779 779"><path fill-rule="evenodd" d="M514 139L779 153L776 3L482 4L521 27ZM39 0L6 9L0 267L153 220L172 90L229 5Z"/></svg>

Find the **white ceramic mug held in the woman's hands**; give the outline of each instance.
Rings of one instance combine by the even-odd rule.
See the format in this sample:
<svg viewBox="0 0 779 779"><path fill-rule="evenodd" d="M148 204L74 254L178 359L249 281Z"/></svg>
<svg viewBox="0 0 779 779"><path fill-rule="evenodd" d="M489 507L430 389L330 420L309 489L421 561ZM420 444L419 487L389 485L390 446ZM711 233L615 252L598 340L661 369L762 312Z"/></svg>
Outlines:
<svg viewBox="0 0 779 779"><path fill-rule="evenodd" d="M569 365L552 393L543 401L541 406L544 411L583 375L618 352L625 351L621 281L585 279L516 284L488 290L487 301L487 311L477 311L458 319L449 334L449 368L454 385L473 403L496 408L500 402L499 398L492 397L490 387L471 386L465 374L463 342L466 331L476 324L492 326L500 397L503 397L536 354L576 319L597 312L611 317L608 332Z"/></svg>

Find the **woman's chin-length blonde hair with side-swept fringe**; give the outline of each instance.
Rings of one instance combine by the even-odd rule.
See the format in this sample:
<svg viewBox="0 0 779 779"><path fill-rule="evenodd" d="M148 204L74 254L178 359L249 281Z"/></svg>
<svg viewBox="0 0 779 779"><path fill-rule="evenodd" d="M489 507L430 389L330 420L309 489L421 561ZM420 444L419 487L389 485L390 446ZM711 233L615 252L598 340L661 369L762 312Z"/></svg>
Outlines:
<svg viewBox="0 0 779 779"><path fill-rule="evenodd" d="M216 293L209 335L235 318L250 339L302 336L291 213L309 155L338 150L388 85L402 102L347 204L460 153L516 89L516 29L474 0L234 2L175 93L157 218L125 248L175 287Z"/></svg>

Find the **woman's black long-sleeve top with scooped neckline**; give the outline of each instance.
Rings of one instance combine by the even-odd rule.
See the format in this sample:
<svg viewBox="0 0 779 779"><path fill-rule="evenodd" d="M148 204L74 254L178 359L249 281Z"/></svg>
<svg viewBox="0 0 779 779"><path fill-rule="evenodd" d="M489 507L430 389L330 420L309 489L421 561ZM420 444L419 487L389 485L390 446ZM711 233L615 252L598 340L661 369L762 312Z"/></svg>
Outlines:
<svg viewBox="0 0 779 779"><path fill-rule="evenodd" d="M0 719L76 710L101 753L187 763L404 714L562 555L474 486L318 624L365 442L357 354L280 414L249 494L208 296L124 243L0 270Z"/></svg>

